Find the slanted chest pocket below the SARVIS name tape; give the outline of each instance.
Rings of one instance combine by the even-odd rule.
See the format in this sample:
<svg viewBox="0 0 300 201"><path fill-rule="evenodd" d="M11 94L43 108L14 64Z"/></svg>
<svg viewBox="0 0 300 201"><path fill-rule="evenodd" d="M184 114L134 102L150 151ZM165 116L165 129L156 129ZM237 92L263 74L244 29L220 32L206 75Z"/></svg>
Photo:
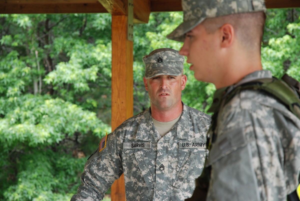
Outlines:
<svg viewBox="0 0 300 201"><path fill-rule="evenodd" d="M143 151L138 151L134 153L135 159L137 160L140 171L142 172L143 178L146 182L148 189L154 188L154 180L149 167L146 163Z"/></svg>

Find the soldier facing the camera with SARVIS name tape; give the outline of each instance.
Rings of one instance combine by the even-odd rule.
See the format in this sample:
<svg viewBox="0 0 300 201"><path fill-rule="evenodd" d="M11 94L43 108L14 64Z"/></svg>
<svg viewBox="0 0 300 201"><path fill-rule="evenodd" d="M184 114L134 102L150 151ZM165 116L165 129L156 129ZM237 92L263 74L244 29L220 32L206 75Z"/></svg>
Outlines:
<svg viewBox="0 0 300 201"><path fill-rule="evenodd" d="M143 58L150 108L105 136L71 200L101 200L124 173L127 200L184 200L203 169L211 117L181 101L184 56L162 48Z"/></svg>

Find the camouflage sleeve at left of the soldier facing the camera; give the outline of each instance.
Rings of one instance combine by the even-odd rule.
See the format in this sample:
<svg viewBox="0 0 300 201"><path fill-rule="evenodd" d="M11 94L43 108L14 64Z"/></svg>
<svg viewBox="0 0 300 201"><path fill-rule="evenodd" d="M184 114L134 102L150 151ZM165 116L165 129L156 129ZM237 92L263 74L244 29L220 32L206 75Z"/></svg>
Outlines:
<svg viewBox="0 0 300 201"><path fill-rule="evenodd" d="M85 163L81 175L81 185L77 194L73 195L71 201L102 200L104 193L122 173L121 156L119 154L119 140L116 135L107 135L106 142L100 142L99 148L91 155ZM103 146L101 147L101 143Z"/></svg>

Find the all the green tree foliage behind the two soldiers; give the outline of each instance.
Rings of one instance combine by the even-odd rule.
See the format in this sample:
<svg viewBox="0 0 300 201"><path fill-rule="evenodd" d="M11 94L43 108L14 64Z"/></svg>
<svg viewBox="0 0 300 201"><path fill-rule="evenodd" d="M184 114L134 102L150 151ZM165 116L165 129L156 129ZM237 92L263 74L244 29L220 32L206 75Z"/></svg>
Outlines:
<svg viewBox="0 0 300 201"><path fill-rule="evenodd" d="M267 12L264 69L299 75L299 9ZM149 107L143 56L166 39L182 12L152 13L134 26L134 114ZM110 14L0 15L0 200L69 200L87 157L110 132ZM207 111L214 85L184 64L182 100Z"/></svg>

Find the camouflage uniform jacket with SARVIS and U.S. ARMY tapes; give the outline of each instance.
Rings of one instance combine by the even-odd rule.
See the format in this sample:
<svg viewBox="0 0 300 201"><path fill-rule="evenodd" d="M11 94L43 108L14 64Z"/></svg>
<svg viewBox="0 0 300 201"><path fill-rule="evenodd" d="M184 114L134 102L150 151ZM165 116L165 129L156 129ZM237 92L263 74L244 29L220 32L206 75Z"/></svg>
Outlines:
<svg viewBox="0 0 300 201"><path fill-rule="evenodd" d="M163 137L151 110L126 120L107 136L85 164L82 184L71 200L101 200L124 173L127 200L184 200L192 195L203 169L210 116L184 105L182 115Z"/></svg>

